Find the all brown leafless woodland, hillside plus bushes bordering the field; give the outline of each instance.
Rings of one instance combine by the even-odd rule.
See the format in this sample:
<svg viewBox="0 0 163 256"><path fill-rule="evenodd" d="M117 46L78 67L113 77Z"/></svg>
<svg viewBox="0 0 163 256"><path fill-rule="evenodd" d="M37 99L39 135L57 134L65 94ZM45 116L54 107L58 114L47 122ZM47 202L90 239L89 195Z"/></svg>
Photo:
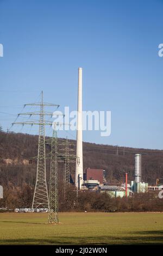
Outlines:
<svg viewBox="0 0 163 256"><path fill-rule="evenodd" d="M4 187L4 199L0 207L31 207L36 179L37 136L22 133L0 132L0 184ZM74 141L72 141L74 143ZM134 154L142 154L142 180L153 185L156 178L163 177L163 151L133 148L118 148L110 145L83 143L84 168L105 169L106 181L110 184L134 178ZM46 146L47 152L50 147ZM74 164L70 166L71 181L74 180ZM79 193L78 202L74 187L67 194L66 204L61 193L63 167L59 166L61 211L155 211L162 210L162 200L151 194L135 195L132 198L112 199L96 192ZM47 161L47 185L49 185L49 162ZM152 197L152 198L151 198Z"/></svg>

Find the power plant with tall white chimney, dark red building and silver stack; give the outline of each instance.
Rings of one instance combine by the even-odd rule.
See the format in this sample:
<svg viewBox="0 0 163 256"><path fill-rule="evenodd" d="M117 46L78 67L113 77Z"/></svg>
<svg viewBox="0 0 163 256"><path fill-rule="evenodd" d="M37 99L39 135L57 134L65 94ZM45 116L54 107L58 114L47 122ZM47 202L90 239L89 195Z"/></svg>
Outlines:
<svg viewBox="0 0 163 256"><path fill-rule="evenodd" d="M141 180L141 154L135 154L135 175L131 184L121 186L105 185L105 170L86 168L83 172L83 138L82 138L82 68L78 69L78 118L77 118L77 151L76 151L75 185L77 190L97 190L106 192L112 197L130 196L133 193L148 192L148 183ZM150 188L149 188L150 189ZM163 189L163 187L162 187Z"/></svg>

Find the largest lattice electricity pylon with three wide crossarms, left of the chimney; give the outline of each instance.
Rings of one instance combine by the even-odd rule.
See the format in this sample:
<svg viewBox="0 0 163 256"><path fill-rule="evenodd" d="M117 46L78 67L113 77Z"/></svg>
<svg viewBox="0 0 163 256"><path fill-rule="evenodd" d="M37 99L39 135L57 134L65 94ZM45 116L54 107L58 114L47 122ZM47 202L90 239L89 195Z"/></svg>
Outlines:
<svg viewBox="0 0 163 256"><path fill-rule="evenodd" d="M45 112L45 106L55 106L59 105L53 103L43 103L43 92L41 92L41 102L39 103L28 103L25 106L40 106L40 112L28 112L21 113L19 115L40 115L39 121L25 121L25 122L15 122L13 124L28 124L28 125L39 125L39 145L37 154L37 173L36 173L36 184L33 196L32 209L36 208L48 208L49 209L49 198L47 191L47 181L46 181L46 155L45 155L45 125L51 125L52 121L46 121L45 115L53 116L53 113Z"/></svg>

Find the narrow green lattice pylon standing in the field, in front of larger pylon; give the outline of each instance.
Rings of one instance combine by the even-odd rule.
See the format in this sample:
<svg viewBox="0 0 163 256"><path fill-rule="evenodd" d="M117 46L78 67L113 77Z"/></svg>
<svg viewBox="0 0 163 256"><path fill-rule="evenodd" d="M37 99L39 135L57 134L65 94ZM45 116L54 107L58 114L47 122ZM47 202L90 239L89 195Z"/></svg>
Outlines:
<svg viewBox="0 0 163 256"><path fill-rule="evenodd" d="M51 142L51 170L50 170L50 185L49 185L49 209L48 222L58 223L58 146L57 131L54 127L52 142Z"/></svg>

